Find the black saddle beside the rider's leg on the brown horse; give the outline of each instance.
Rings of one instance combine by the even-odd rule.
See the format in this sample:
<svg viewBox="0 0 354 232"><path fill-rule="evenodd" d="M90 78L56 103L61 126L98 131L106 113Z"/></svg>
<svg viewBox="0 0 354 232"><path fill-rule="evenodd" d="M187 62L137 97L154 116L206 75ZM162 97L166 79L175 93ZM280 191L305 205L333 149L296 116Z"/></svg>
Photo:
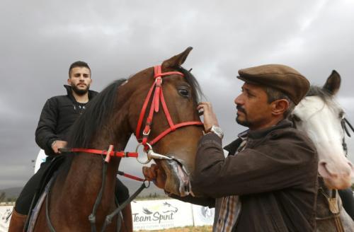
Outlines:
<svg viewBox="0 0 354 232"><path fill-rule="evenodd" d="M33 209L35 208L35 205L38 202L38 199L40 199L40 196L42 195L42 192L45 191L45 187L47 186L48 182L52 179L54 173L58 170L58 168L62 165L64 162L65 156L58 155L55 156L49 164L47 164L47 167L45 167L44 174L42 175L42 178L40 180L40 186L38 186L37 191L35 192L35 195L33 197L32 203L30 204L30 210L28 211L28 216L27 220L25 222L25 227L24 231L27 231L28 225L30 223L30 218L33 214Z"/></svg>

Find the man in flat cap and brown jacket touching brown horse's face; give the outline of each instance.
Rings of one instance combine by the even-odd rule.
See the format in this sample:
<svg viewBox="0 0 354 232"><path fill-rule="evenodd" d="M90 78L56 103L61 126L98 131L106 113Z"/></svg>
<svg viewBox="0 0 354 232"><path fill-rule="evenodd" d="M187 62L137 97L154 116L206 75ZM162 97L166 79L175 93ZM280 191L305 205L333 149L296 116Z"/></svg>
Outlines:
<svg viewBox="0 0 354 232"><path fill-rule="evenodd" d="M212 105L198 105L206 134L198 144L192 187L215 206L213 231L314 231L318 157L312 141L287 120L309 81L279 64L241 69L238 78L245 83L234 100L236 122L249 129L224 148L227 158ZM143 172L164 186L156 166Z"/></svg>

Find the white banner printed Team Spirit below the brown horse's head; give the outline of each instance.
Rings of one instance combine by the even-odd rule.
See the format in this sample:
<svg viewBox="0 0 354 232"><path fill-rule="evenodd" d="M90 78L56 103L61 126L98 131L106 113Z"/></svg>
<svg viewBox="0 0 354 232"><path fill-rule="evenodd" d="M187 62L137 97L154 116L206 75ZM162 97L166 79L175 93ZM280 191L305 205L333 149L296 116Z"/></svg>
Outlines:
<svg viewBox="0 0 354 232"><path fill-rule="evenodd" d="M193 226L191 204L176 199L132 202L132 219L135 231Z"/></svg>

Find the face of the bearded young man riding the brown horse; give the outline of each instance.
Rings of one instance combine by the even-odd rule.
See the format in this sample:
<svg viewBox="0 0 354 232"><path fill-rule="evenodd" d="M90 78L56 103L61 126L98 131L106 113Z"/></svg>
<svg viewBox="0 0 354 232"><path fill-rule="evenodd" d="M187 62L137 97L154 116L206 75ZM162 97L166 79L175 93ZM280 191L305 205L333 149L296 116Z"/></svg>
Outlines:
<svg viewBox="0 0 354 232"><path fill-rule="evenodd" d="M77 95L84 95L91 85L91 71L86 67L75 67L70 71L67 83Z"/></svg>

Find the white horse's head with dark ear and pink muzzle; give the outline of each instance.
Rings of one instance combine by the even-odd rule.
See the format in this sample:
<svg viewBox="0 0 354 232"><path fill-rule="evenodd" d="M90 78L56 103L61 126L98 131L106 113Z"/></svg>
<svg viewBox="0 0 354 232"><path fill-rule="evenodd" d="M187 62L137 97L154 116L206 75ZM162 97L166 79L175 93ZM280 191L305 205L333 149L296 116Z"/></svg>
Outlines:
<svg viewBox="0 0 354 232"><path fill-rule="evenodd" d="M350 187L354 177L352 163L345 156L343 143L344 111L333 99L340 87L341 77L333 71L323 88L312 86L297 105L292 118L297 129L305 132L319 153L319 174L330 189Z"/></svg>

